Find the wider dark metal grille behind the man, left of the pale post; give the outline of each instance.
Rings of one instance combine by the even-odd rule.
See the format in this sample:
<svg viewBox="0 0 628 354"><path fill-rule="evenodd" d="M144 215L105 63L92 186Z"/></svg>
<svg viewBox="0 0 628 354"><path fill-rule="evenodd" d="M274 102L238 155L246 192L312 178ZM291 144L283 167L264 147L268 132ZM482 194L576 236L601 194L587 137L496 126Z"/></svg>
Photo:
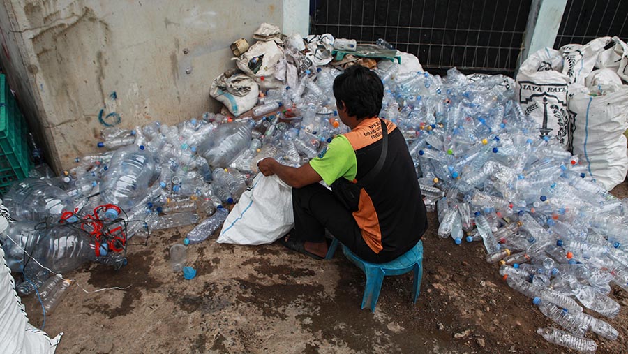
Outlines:
<svg viewBox="0 0 628 354"><path fill-rule="evenodd" d="M513 73L532 0L311 0L313 33L383 38L430 71Z"/></svg>

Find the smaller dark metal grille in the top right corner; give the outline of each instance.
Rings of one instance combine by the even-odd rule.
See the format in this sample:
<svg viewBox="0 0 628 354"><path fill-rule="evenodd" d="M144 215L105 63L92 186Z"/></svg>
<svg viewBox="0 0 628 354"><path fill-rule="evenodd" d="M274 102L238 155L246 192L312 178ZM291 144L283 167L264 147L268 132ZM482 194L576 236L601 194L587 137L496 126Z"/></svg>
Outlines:
<svg viewBox="0 0 628 354"><path fill-rule="evenodd" d="M602 36L628 38L628 3L625 0L570 0L558 28L555 48L585 44Z"/></svg>

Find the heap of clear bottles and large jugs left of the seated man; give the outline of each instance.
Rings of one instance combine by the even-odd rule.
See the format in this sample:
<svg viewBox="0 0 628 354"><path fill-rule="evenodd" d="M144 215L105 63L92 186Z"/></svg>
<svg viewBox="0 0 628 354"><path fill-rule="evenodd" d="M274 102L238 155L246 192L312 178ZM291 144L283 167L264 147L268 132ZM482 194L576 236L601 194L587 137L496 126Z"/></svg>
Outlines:
<svg viewBox="0 0 628 354"><path fill-rule="evenodd" d="M33 170L4 196L18 222L0 240L12 270L24 274L20 294L88 261L122 267L128 239L149 230L208 216L184 242L207 239L226 219L222 205L248 188L258 161L301 165L346 131L331 109L334 75L306 71L299 87L267 91L253 110L257 119L206 112L176 126L106 128L97 144L102 153L77 157L59 177Z"/></svg>

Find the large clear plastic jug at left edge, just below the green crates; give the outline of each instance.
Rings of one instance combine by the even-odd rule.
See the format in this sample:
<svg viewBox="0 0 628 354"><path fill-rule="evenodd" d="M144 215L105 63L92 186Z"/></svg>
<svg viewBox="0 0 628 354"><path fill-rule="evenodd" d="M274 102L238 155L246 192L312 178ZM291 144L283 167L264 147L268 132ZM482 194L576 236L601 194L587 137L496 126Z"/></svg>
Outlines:
<svg viewBox="0 0 628 354"><path fill-rule="evenodd" d="M4 205L15 220L58 220L66 210L74 210L68 193L44 180L27 178L14 183L4 195Z"/></svg>

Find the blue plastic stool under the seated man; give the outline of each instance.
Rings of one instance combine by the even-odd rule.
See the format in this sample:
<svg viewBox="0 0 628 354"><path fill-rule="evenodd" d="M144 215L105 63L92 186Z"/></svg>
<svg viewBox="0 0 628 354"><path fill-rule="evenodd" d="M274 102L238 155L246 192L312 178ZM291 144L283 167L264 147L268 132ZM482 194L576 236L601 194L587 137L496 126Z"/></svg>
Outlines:
<svg viewBox="0 0 628 354"><path fill-rule="evenodd" d="M338 247L338 239L331 242L325 259L331 259ZM414 272L414 283L412 284L412 302L417 303L423 278L423 242L419 241L410 251L403 253L398 258L388 263L369 263L356 256L350 249L342 245L345 256L366 275L366 286L364 286L364 296L362 297L362 309L371 307L371 312L375 312L377 299L380 297L384 276L401 275Z"/></svg>

